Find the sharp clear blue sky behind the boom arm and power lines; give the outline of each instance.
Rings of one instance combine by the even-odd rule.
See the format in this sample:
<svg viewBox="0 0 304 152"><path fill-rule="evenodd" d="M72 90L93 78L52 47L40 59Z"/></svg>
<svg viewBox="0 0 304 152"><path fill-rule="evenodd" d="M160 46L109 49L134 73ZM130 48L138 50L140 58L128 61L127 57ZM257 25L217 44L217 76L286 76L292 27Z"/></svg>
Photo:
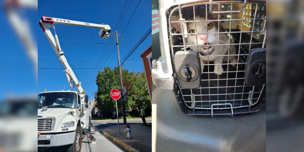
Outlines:
<svg viewBox="0 0 304 152"><path fill-rule="evenodd" d="M42 92L44 88L47 91L51 90L65 90L69 89L67 78L65 77L63 69L39 69L39 68L63 68L59 63L58 58L52 49L51 45L45 37L42 29L38 28L38 21L41 16L49 16L62 19L70 19L91 23L104 23L111 26L111 37L104 40L98 36L98 29L55 25L56 33L58 34L61 43L61 49L65 53L68 63L72 67L76 77L82 82L82 87L86 90L87 94L91 96L97 90L95 83L97 71L104 66L114 67L117 66L117 50L114 40L115 30L121 34L126 27L135 7L139 0L133 0L130 9L121 22L119 29L114 29L119 15L123 9L124 0L111 0L111 1L60 1L54 0L40 1L38 4L38 16L36 18L37 25L35 32L37 33L38 40L38 93ZM131 1L128 2L127 8ZM120 57L121 60L128 54L128 52L135 46L141 37L151 27L151 1L142 0L128 24L124 34L120 39ZM126 11L127 9L125 9ZM124 16L124 14L123 14ZM37 32L38 31L38 32ZM111 39L111 40L110 40ZM107 44L88 44L88 43L109 43L106 52L103 52ZM87 43L87 44L68 44L68 43ZM152 43L151 35L135 50L135 52L124 63L123 68L131 71L144 71L142 59L138 57L147 47ZM115 47L115 48L114 48ZM114 48L114 50L113 50ZM107 62L98 62L99 60L105 61L109 56ZM103 56L102 56L103 55ZM101 59L100 59L101 57ZM82 60L82 61L80 61ZM103 67L104 67L103 66ZM103 70L103 67L101 70ZM98 68L98 69L76 69L76 68ZM91 97L93 98L93 96Z"/></svg>

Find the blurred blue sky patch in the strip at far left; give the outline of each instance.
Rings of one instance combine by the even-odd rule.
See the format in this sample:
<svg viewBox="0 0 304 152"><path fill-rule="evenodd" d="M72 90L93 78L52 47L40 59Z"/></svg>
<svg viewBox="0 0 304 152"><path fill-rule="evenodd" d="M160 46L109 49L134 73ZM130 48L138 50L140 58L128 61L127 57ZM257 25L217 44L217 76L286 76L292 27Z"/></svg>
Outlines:
<svg viewBox="0 0 304 152"><path fill-rule="evenodd" d="M37 40L35 27L39 27L37 10L23 10L21 14L27 17L30 22L33 36ZM0 28L2 34L1 46L1 92L0 99L6 98L7 94L35 95L37 90L37 80L33 66L26 55L23 45L11 28L3 10L0 12ZM40 31L39 31L40 32Z"/></svg>

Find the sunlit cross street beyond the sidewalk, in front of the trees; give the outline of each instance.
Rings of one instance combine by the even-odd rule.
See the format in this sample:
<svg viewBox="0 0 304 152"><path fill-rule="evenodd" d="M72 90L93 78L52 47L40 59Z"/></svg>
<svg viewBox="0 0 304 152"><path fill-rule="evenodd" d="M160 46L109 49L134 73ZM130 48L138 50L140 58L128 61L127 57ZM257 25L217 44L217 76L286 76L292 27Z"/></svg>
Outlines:
<svg viewBox="0 0 304 152"><path fill-rule="evenodd" d="M123 124L123 120L119 120L120 124ZM129 125L132 124L142 124L142 119L127 119L127 123ZM151 118L146 118L146 123L152 123ZM92 120L92 124L96 126L96 128L100 131L102 129L111 127L111 126L117 126L117 119L116 120ZM117 126L118 127L118 126Z"/></svg>

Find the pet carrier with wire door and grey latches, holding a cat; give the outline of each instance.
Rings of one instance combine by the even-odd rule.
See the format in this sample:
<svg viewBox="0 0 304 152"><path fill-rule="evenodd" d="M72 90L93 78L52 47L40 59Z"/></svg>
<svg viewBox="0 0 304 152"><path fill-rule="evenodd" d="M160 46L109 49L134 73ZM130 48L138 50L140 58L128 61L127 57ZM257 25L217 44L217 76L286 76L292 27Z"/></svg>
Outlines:
<svg viewBox="0 0 304 152"><path fill-rule="evenodd" d="M257 112L266 103L266 1L165 1L153 83L188 115ZM168 39L168 40L167 40Z"/></svg>

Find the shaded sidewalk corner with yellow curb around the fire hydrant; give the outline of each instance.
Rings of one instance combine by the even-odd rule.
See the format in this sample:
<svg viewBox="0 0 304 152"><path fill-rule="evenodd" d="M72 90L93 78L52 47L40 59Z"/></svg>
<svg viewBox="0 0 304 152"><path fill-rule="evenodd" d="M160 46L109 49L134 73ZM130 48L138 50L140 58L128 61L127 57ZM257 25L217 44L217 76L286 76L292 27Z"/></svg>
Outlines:
<svg viewBox="0 0 304 152"><path fill-rule="evenodd" d="M121 135L119 135L118 126L111 126L102 130L102 133L108 138L118 143L128 151L151 152L152 151L152 127L151 123L147 126L141 124L129 124L131 126L132 139L127 139L124 133L126 125L120 125ZM113 138L114 137L114 138ZM129 148L128 148L129 147ZM133 147L133 148L132 148ZM133 150L132 150L133 149Z"/></svg>

